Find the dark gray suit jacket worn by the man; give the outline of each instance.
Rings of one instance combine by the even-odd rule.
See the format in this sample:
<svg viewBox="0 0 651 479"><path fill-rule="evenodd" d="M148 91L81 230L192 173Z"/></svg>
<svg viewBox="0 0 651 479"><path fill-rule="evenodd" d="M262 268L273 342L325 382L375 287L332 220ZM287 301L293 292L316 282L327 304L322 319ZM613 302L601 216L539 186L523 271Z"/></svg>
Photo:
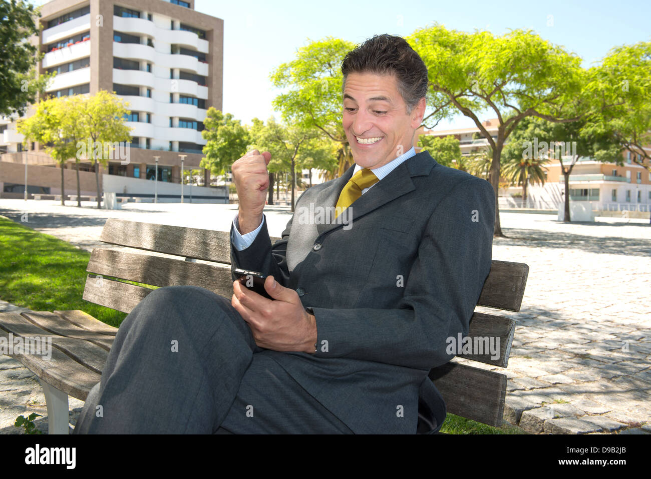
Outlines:
<svg viewBox="0 0 651 479"><path fill-rule="evenodd" d="M454 357L446 338L467 335L490 271L493 189L421 152L352 204L350 228L306 221L336 204L353 168L307 189L273 247L266 221L247 249L231 245L232 265L273 275L316 317L316 353L260 354L353 432L415 433L419 397L445 418L427 374Z"/></svg>

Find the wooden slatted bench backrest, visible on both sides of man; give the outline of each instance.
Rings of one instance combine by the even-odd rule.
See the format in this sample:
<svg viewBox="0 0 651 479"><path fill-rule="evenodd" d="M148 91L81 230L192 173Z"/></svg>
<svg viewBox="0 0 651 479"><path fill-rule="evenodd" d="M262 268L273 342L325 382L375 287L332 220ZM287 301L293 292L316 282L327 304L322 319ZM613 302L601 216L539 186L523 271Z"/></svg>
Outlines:
<svg viewBox="0 0 651 479"><path fill-rule="evenodd" d="M271 238L271 242L276 239ZM134 250L92 251L87 267L91 274L83 293L87 301L131 312L152 288L124 281L158 287L191 284L229 299L232 296L229 232L108 219L100 240ZM526 264L493 260L478 305L519 311L528 273ZM475 312L468 336L499 337L499 357L492 359L488 351L484 355L458 357L505 368L514 331L515 322L510 318ZM432 369L429 376L450 413L492 426L501 425L506 394L504 374L450 361Z"/></svg>

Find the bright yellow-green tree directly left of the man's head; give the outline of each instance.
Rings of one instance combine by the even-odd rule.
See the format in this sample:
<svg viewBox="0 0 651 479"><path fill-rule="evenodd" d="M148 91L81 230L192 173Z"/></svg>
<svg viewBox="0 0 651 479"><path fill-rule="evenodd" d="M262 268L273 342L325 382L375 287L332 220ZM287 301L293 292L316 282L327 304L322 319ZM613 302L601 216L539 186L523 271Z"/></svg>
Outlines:
<svg viewBox="0 0 651 479"><path fill-rule="evenodd" d="M279 65L270 75L273 86L284 90L273 100L273 107L281 112L283 121L305 131L319 130L340 145L337 176L353 164L341 124L343 75L340 68L346 53L353 48L352 42L328 36L299 48L296 59Z"/></svg>

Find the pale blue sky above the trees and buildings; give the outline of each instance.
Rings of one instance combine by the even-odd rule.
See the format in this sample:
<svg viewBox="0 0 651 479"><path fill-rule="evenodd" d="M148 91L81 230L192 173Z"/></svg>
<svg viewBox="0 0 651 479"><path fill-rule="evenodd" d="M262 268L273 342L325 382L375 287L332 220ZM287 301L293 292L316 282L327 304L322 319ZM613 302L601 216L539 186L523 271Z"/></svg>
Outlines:
<svg viewBox="0 0 651 479"><path fill-rule="evenodd" d="M43 1L33 1L36 5ZM297 1L195 0L195 10L224 20L223 111L243 124L275 115L279 94L270 72L294 59L310 40L327 36L355 44L374 34L407 36L432 22L449 29L533 29L588 67L609 49L651 40L651 0L622 1ZM482 119L491 118L487 113ZM460 115L436 130L474 126Z"/></svg>

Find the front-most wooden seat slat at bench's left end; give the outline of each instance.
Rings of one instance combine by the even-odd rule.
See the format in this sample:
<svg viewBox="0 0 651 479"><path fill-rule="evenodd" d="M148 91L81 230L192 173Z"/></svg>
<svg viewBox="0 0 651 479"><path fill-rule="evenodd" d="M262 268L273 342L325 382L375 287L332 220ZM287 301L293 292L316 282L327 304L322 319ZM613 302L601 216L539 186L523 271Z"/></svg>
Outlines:
<svg viewBox="0 0 651 479"><path fill-rule="evenodd" d="M1 329L0 336L9 340L9 333ZM11 357L49 385L82 401L86 400L90 389L100 382L99 374L77 363L57 348L52 348L50 359L32 354L14 354Z"/></svg>

